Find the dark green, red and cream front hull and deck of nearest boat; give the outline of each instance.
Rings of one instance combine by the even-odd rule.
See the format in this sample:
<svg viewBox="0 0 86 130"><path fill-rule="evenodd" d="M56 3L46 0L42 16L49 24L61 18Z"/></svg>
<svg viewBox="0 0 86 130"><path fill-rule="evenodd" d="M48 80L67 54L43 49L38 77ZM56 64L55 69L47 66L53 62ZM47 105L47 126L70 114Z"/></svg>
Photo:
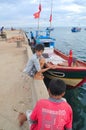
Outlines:
<svg viewBox="0 0 86 130"><path fill-rule="evenodd" d="M45 48L43 54L49 64L55 65L44 73L48 79L62 79L69 87L79 87L86 83L86 63L73 58L71 66L68 66L69 56L57 49Z"/></svg>

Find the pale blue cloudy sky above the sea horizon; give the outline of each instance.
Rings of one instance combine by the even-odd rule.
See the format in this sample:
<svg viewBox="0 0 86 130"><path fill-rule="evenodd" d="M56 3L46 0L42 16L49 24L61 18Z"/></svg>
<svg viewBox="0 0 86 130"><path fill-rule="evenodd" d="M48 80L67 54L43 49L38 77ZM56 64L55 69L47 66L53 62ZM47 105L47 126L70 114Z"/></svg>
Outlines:
<svg viewBox="0 0 86 130"><path fill-rule="evenodd" d="M86 0L0 0L0 26L36 27L38 19L33 14L42 10L39 26L50 26L52 5L52 26L85 26Z"/></svg>

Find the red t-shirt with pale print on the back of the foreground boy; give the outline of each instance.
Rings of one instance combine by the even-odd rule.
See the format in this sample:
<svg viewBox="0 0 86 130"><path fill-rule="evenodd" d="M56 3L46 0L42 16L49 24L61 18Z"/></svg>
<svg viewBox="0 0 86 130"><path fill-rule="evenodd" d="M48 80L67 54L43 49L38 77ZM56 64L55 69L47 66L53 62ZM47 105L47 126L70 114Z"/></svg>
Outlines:
<svg viewBox="0 0 86 130"><path fill-rule="evenodd" d="M41 99L37 102L30 116L32 121L31 130L68 130L72 129L72 109L65 102L53 102Z"/></svg>

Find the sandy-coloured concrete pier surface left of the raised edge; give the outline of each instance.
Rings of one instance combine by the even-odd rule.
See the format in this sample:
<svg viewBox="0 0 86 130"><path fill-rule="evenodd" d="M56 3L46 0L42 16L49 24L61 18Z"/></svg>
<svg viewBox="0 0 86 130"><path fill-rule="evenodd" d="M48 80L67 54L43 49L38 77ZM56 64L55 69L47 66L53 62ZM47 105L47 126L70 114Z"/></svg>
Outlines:
<svg viewBox="0 0 86 130"><path fill-rule="evenodd" d="M27 123L20 128L17 119L19 112L32 109L32 79L22 72L28 58L26 43L23 39L18 47L11 39L20 35L18 30L6 34L7 40L0 39L0 130L28 130Z"/></svg>

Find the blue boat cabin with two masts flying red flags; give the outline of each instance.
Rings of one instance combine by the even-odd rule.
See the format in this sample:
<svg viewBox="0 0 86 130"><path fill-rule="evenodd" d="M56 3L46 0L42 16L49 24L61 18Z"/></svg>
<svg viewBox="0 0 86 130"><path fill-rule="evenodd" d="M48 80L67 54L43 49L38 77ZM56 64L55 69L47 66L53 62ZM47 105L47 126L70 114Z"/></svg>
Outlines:
<svg viewBox="0 0 86 130"><path fill-rule="evenodd" d="M53 27L51 27L51 23L52 23L52 0L51 0L51 12L50 12L50 18L49 18L49 22L50 22L50 26L45 28L45 29L42 29L40 30L39 28L39 19L40 19L40 14L41 14L41 10L42 10L42 6L41 6L41 3L39 4L39 8L38 8L38 12L36 12L34 14L35 18L38 19L38 28L37 30L35 31L35 36L33 36L33 32L31 31L31 41L30 42L30 45L31 45L31 48L34 52L34 46L36 44L43 44L45 47L54 47L55 45L55 38L51 37L51 31L54 30Z"/></svg>

